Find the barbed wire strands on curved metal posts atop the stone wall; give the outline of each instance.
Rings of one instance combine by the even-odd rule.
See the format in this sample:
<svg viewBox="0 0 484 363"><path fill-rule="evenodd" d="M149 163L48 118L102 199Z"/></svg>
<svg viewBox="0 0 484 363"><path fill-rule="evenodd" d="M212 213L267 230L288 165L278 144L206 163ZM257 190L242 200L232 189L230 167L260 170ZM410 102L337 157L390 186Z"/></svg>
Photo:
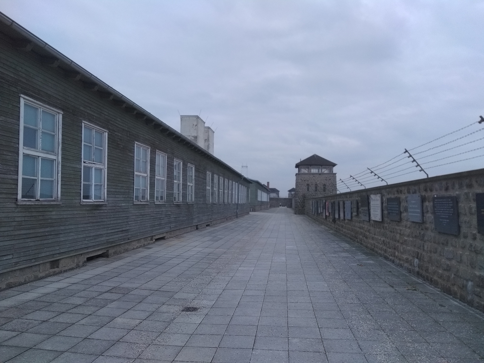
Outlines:
<svg viewBox="0 0 484 363"><path fill-rule="evenodd" d="M403 177L408 174L413 174L417 172L424 172L425 174L427 174L426 170L429 170L435 167L461 163L471 159L483 157L484 156L483 151L479 151L479 150L484 149L484 146L479 146L479 144L476 145L479 147L472 148L469 150L461 151L463 149L459 149L459 150L455 150L455 149L463 148L466 146L469 147L469 145L475 142L484 140L484 136L471 139L470 141L467 140L467 137L471 137L473 135L474 135L473 137L480 136L479 133L484 131L484 127L478 128L477 130L473 130L463 136L458 136L449 141L442 140L442 139L448 138L449 136L457 134L469 127L472 127L475 125L481 125L483 122L484 122L484 118L481 116L479 121L472 122L467 126L461 127L458 130L452 131L445 135L439 136L433 140L427 141L422 145L413 147L408 150L405 149L405 151L403 151L398 155L393 156L393 158L387 160L386 162L378 164L373 167L367 167L365 170L359 173L349 175L346 179L339 179L336 183L338 192L348 191L348 190L351 191L355 189L362 189L366 187L377 186L375 184L378 184L378 183L388 184L389 180L392 181L392 179L394 178ZM442 142L439 145L435 145L435 146L431 145L438 140L445 141L445 142ZM463 141L465 140L465 142L455 146L451 145L454 142L457 142L459 140L463 140ZM429 145L430 147L426 148L425 150L419 151L420 148L423 148L424 146L427 146L427 145ZM440 148L444 148L447 145L451 147L447 147L445 149L440 150ZM475 145L472 145L472 146L475 146ZM459 152L455 152L455 151L459 151ZM443 154L444 152L448 152L449 155ZM439 154L442 154L442 155L439 155ZM465 154L468 154L466 156L469 156L469 157L459 159L459 160L452 159L452 158L458 158L459 156L465 155ZM427 160L427 158L435 157L436 155L439 155L439 157L430 161ZM448 159L450 159L449 162L441 163L437 165L435 164L435 163L438 163L439 161L448 160ZM427 177L428 177L428 174L427 174Z"/></svg>

